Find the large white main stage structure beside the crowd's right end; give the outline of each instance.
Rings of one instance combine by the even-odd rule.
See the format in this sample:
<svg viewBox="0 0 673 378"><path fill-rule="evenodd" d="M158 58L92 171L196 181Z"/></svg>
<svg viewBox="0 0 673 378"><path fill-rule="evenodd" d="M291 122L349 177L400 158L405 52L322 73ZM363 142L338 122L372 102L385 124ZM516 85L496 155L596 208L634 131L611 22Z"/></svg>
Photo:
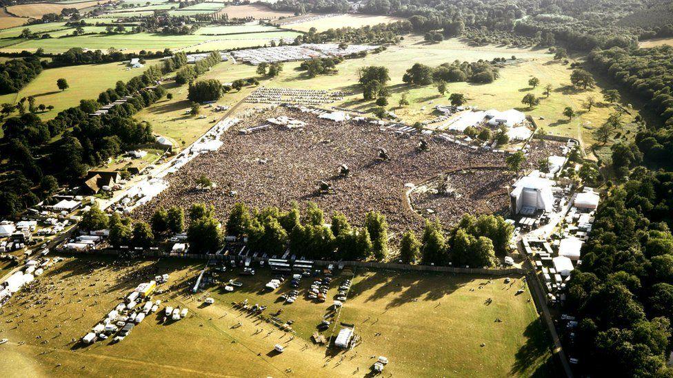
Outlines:
<svg viewBox="0 0 673 378"><path fill-rule="evenodd" d="M520 213L524 207L551 211L554 206L552 180L535 176L523 176L514 184L510 193L510 211Z"/></svg>

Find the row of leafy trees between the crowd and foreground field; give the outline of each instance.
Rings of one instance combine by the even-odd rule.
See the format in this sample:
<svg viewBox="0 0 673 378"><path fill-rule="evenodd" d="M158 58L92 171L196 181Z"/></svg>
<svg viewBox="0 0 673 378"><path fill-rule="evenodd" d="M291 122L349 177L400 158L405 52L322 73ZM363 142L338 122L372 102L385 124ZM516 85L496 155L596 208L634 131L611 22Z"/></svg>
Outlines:
<svg viewBox="0 0 673 378"><path fill-rule="evenodd" d="M182 232L182 213L178 207L159 208L154 211L149 228L154 235ZM389 245L388 222L377 211L365 215L362 227L353 226L338 211L327 218L313 202L308 202L303 213L297 202L288 211L277 207L250 209L239 202L224 222L217 219L212 206L202 203L193 204L187 213L190 224L186 232L192 253L217 251L224 235L231 235L245 238L251 251L282 255L289 250L294 255L319 260L399 260L407 264L493 267L496 256L505 255L514 230L500 216L465 215L448 231L438 220L427 221L421 239L414 231L407 231L396 253Z"/></svg>

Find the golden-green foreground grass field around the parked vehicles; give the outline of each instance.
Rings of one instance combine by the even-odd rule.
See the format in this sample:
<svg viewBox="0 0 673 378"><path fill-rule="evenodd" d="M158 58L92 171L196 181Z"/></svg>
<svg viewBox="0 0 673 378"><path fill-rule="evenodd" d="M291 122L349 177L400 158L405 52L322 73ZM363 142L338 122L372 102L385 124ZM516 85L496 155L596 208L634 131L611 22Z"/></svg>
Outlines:
<svg viewBox="0 0 673 378"><path fill-rule="evenodd" d="M290 290L288 282L275 293L263 291L271 277L265 269L252 277L224 273L221 280L243 283L234 293L212 286L192 295L188 289L202 267L203 261L190 260L123 263L103 256L66 258L40 277L30 292L3 307L0 337L10 341L0 346L0 368L23 376L361 377L373 364L371 355L385 355L390 359L386 372L394 376L548 372L545 334L528 292L514 295L521 287L516 277L510 286L467 275L356 271L351 299L339 321L353 322L362 342L344 352L308 339L330 306L305 299L310 278L301 282L294 304L277 299ZM107 340L83 346L77 341L120 297L163 273L170 274L168 284L159 286L165 293L152 299L162 301L161 310L167 304L188 308L185 319L164 321L163 313L152 314L117 344ZM346 277L351 276L337 276L331 286ZM204 306L206 296L215 304ZM492 303L487 305L489 297ZM282 309L279 318L294 320L296 334L232 306L245 299L268 305L263 314L267 317ZM495 323L496 318L502 322ZM325 337L338 330L330 328ZM282 344L285 351L274 353L274 344Z"/></svg>

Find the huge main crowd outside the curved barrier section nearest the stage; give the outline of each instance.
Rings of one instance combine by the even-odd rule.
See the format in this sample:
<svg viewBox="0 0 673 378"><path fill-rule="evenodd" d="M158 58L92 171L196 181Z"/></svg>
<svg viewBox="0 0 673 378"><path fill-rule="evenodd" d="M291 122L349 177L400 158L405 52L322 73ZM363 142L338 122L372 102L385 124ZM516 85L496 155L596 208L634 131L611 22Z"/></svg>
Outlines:
<svg viewBox="0 0 673 378"><path fill-rule="evenodd" d="M365 213L375 210L385 215L391 231L420 229L423 220L410 209L405 184L423 182L457 168L505 165L503 154L475 151L419 134L397 136L370 123L334 123L280 107L254 114L241 126L262 125L268 118L279 116L302 120L306 126L292 130L272 126L254 134L224 134L219 150L194 158L170 177L167 190L150 204L139 207L134 215L148 219L159 206L194 202L214 204L218 213L226 214L235 202L286 209L293 200L311 200L326 213L341 211L356 223ZM427 141L425 151L418 149L421 138ZM381 148L387 151L389 160L379 158ZM350 169L348 176L338 174L343 164ZM194 190L201 175L208 176L217 187ZM479 177L484 176L489 175ZM321 181L329 184L327 193L319 191ZM480 182L473 185L484 187ZM456 209L460 211L457 216L469 208L465 205Z"/></svg>

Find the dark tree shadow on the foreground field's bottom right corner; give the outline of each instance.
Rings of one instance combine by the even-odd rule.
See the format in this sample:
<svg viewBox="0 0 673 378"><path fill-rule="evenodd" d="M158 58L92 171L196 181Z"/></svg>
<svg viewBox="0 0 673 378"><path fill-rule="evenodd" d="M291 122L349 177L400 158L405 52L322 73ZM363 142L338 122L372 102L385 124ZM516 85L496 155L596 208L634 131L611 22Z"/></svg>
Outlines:
<svg viewBox="0 0 673 378"><path fill-rule="evenodd" d="M535 319L528 324L523 331L523 335L528 340L516 352L516 361L514 361L514 365L510 370L510 375L559 377L558 372L562 370L554 366L554 355L550 351L552 342L542 319ZM529 370L531 366L536 366L536 368Z"/></svg>

